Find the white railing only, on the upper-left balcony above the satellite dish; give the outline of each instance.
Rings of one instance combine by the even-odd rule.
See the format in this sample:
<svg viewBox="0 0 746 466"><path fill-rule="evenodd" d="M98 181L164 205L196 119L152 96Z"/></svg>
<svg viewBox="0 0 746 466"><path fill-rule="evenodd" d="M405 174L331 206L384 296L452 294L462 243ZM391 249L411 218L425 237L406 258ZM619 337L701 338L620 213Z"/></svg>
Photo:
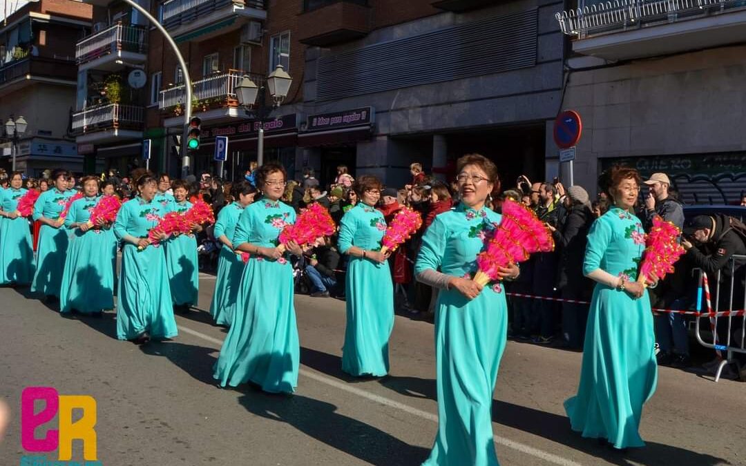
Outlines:
<svg viewBox="0 0 746 466"><path fill-rule="evenodd" d="M78 64L86 63L116 51L145 54L148 50L148 30L140 26L116 24L86 37L75 45Z"/></svg>

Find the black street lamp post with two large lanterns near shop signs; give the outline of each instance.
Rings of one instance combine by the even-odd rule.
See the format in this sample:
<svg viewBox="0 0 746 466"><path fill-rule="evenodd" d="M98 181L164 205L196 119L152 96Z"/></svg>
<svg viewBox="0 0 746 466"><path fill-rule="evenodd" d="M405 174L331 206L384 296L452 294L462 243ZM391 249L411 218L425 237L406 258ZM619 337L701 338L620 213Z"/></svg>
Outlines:
<svg viewBox="0 0 746 466"><path fill-rule="evenodd" d="M259 120L257 130L257 164L259 166L264 164L264 123L262 119L269 115L272 108L280 107L280 104L287 97L291 84L292 78L285 72L282 65L278 65L275 71L270 73L267 77L267 87L269 95L272 96L272 107L267 107L264 101L264 86L257 86L248 75L243 75L240 84L236 86L236 96L239 104L245 107L247 111L257 107L254 110L254 118ZM258 102L257 96L259 97Z"/></svg>

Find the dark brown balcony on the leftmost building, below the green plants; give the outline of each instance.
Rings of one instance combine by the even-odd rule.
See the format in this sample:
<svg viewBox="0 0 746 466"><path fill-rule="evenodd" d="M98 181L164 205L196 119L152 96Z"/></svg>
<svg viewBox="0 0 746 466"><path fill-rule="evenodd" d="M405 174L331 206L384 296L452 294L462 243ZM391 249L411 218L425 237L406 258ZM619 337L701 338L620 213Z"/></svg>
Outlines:
<svg viewBox="0 0 746 466"><path fill-rule="evenodd" d="M0 65L0 97L34 82L75 86L78 68L68 57L25 57Z"/></svg>

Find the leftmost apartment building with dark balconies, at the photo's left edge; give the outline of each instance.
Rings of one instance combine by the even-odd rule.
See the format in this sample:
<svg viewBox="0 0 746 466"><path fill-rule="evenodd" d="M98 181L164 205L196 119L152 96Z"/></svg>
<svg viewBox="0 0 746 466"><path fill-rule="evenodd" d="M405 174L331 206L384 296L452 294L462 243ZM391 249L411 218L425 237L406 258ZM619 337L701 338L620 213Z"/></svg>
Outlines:
<svg viewBox="0 0 746 466"><path fill-rule="evenodd" d="M28 123L17 141L16 169L38 176L50 167L83 170L70 133L75 107L75 42L90 28L90 5L40 0L19 8L0 25L0 119ZM10 142L0 166L10 169Z"/></svg>

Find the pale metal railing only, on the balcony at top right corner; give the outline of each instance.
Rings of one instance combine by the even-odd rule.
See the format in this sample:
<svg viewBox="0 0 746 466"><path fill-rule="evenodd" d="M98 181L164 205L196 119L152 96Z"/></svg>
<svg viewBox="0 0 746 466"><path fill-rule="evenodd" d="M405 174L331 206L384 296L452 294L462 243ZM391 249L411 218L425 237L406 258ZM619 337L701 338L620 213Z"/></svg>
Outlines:
<svg viewBox="0 0 746 466"><path fill-rule="evenodd" d="M746 0L614 0L557 13L556 17L563 33L583 39L743 7Z"/></svg>

